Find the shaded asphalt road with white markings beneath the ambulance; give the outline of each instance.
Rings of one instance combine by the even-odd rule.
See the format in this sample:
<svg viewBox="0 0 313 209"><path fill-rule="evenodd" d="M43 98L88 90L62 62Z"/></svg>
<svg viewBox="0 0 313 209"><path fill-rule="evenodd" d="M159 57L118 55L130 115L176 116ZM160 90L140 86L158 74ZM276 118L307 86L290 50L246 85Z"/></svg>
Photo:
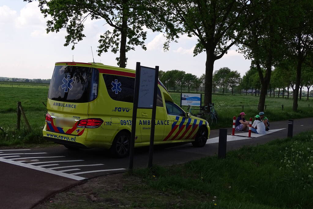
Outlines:
<svg viewBox="0 0 313 209"><path fill-rule="evenodd" d="M294 135L313 130L312 120L313 118L295 120ZM267 135L253 135L258 136L255 138L229 136L227 150L285 138L287 126L287 121L271 122L270 128L275 129L275 132ZM218 152L218 132L219 130L211 130L210 139L203 148L194 148L191 144L156 146L153 162L166 166L215 155ZM231 129L228 129L228 134L231 134ZM236 135L245 134L247 133L236 132ZM147 165L148 153L147 147L135 149L134 168ZM82 183L88 178L125 172L128 162L128 158L112 158L100 149L68 150L58 146L0 150L0 208L32 208L55 192Z"/></svg>

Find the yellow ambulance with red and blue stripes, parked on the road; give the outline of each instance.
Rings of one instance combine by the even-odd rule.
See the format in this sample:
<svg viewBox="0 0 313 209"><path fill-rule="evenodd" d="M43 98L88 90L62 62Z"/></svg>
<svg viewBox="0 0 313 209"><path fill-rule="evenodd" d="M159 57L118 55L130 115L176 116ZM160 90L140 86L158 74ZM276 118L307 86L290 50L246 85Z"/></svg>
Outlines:
<svg viewBox="0 0 313 209"><path fill-rule="evenodd" d="M117 157L129 153L135 70L101 63L58 62L52 75L44 139L68 149L105 148ZM176 105L159 81L154 144L206 144L206 120ZM150 143L151 109L137 110L135 147Z"/></svg>

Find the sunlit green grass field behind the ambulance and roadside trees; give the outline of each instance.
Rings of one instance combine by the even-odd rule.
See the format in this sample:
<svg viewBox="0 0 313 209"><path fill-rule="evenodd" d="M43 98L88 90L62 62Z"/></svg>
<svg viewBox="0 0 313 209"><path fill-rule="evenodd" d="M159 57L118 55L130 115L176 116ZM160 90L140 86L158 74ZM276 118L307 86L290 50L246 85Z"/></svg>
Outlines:
<svg viewBox="0 0 313 209"><path fill-rule="evenodd" d="M42 127L44 126L46 107L47 88L15 88L15 87L0 87L0 127L5 133L0 130L0 146L16 145L21 143L41 143ZM180 93L170 93L174 101L180 104ZM22 130L16 131L16 110L17 102L21 101L25 110L28 121L33 128L32 133L28 133L25 129L22 119ZM231 127L233 116L239 115L242 112L247 114L246 119L254 117L258 114L257 105L259 97L251 95L213 95L215 109L218 112L218 122L211 125L211 129ZM313 117L313 101L299 101L297 112L292 111L292 99L266 98L267 108L265 110L269 121L288 120L304 117ZM281 108L284 105L284 111ZM310 108L309 108L310 105ZM182 107L187 109L186 106ZM193 113L197 113L195 110Z"/></svg>

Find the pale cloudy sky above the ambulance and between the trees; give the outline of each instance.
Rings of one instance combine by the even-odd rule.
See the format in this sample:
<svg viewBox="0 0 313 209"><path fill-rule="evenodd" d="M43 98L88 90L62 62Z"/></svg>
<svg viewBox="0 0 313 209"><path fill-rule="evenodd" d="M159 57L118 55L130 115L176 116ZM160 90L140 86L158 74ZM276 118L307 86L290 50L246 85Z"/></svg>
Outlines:
<svg viewBox="0 0 313 209"><path fill-rule="evenodd" d="M56 62L92 62L90 46L93 48L95 62L117 66L118 54L112 52L97 55L100 35L110 29L104 20L87 20L84 34L86 37L75 45L64 47L65 30L59 33L46 33L46 21L40 13L38 3L23 0L0 0L0 77L50 79ZM165 38L162 33L147 30L146 48L135 47L126 54L127 68L135 69L136 62L160 70L183 70L201 76L205 73L205 53L193 57L196 37L183 35L178 43L171 43L167 52L163 51ZM249 69L250 60L236 52L233 46L223 58L216 60L214 70L229 67L238 70L241 76Z"/></svg>

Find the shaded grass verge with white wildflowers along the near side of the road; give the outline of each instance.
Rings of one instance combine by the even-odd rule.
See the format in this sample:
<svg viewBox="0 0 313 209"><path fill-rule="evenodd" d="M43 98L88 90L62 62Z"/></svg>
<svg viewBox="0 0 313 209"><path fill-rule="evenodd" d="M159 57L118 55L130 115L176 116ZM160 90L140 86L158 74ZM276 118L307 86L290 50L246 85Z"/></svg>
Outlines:
<svg viewBox="0 0 313 209"><path fill-rule="evenodd" d="M37 208L312 208L313 131L227 158L88 180Z"/></svg>

